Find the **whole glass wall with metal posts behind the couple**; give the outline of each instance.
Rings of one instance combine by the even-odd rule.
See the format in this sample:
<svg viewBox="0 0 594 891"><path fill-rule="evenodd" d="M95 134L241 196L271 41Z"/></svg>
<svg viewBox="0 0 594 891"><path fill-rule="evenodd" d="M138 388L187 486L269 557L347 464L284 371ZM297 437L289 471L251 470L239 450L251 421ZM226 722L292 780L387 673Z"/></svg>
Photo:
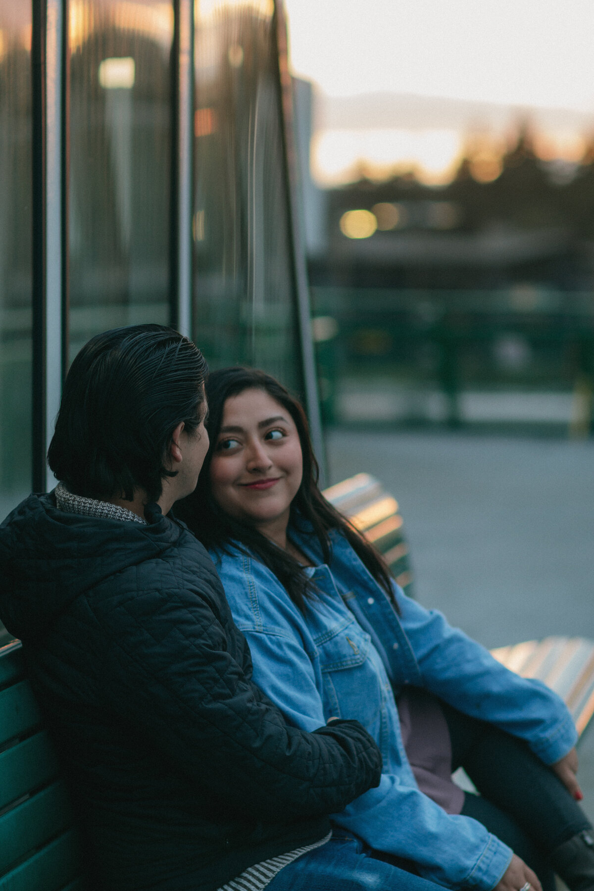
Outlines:
<svg viewBox="0 0 594 891"><path fill-rule="evenodd" d="M280 2L0 0L0 170L0 519L53 486L63 377L120 325L264 367L319 444Z"/></svg>

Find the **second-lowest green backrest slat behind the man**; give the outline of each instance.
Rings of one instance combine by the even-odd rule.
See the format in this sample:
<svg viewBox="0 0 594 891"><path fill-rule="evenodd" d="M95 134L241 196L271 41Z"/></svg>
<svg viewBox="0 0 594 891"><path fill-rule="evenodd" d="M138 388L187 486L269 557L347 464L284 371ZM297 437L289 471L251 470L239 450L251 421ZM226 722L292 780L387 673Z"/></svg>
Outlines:
<svg viewBox="0 0 594 891"><path fill-rule="evenodd" d="M61 782L4 813L0 817L0 875L68 829L71 823L68 796Z"/></svg>

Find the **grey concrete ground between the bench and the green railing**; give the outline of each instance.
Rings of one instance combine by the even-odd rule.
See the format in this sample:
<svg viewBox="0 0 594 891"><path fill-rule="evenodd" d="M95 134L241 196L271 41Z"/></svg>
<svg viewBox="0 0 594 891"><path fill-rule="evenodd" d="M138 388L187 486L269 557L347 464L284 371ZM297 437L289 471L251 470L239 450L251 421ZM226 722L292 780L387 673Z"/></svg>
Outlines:
<svg viewBox="0 0 594 891"><path fill-rule="evenodd" d="M415 594L487 647L594 639L594 442L337 429L330 483L366 470L398 499ZM580 744L594 821L594 721Z"/></svg>

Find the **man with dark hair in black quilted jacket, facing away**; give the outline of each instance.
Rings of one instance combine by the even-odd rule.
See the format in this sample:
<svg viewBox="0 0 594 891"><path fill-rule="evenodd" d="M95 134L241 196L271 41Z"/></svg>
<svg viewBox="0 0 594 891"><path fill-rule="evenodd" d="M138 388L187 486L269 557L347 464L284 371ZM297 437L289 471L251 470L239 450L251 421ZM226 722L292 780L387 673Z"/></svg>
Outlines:
<svg viewBox="0 0 594 891"><path fill-rule="evenodd" d="M101 891L263 888L379 781L360 724L302 732L251 683L207 552L167 517L207 451L206 372L159 325L90 340L49 450L60 484L0 527L0 617L23 642Z"/></svg>

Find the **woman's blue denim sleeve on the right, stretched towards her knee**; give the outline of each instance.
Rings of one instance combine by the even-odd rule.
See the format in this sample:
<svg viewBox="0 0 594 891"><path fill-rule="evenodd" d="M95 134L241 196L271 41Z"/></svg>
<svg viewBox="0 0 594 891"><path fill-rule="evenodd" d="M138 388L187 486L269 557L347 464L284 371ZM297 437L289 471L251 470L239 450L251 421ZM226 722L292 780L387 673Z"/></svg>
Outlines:
<svg viewBox="0 0 594 891"><path fill-rule="evenodd" d="M562 699L545 684L520 677L442 613L425 609L395 587L400 621L419 665L423 685L467 715L526 740L544 764L575 745L577 732Z"/></svg>

